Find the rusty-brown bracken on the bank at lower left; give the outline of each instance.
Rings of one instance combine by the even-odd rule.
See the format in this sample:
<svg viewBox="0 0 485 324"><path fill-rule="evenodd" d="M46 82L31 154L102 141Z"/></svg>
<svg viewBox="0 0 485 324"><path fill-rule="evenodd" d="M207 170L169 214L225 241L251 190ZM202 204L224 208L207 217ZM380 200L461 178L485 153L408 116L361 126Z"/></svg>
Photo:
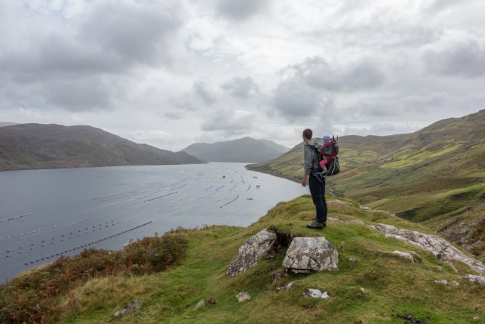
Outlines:
<svg viewBox="0 0 485 324"><path fill-rule="evenodd" d="M98 300L103 293L98 295L89 285L96 285L99 278L166 270L183 258L186 248L183 236L167 233L131 242L121 251L86 249L72 258L61 256L0 285L0 323L53 322L61 313L59 295L70 296L61 303L63 308L76 308L86 298ZM89 283L83 293L71 291L83 283ZM113 298L116 290L108 291Z"/></svg>

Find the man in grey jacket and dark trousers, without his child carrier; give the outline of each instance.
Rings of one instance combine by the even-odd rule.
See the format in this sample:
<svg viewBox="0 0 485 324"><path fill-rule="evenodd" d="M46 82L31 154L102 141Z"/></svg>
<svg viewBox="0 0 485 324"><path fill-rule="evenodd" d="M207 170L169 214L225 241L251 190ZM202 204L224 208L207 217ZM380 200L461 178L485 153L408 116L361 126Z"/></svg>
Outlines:
<svg viewBox="0 0 485 324"><path fill-rule="evenodd" d="M305 148L303 148L303 159L305 161L305 175L303 176L302 186L310 187L313 204L317 216L313 223L308 224L307 228L324 228L327 226L327 201L325 201L325 178L317 177L315 174L319 168L315 143L311 143L313 132L310 128L305 129L302 134Z"/></svg>

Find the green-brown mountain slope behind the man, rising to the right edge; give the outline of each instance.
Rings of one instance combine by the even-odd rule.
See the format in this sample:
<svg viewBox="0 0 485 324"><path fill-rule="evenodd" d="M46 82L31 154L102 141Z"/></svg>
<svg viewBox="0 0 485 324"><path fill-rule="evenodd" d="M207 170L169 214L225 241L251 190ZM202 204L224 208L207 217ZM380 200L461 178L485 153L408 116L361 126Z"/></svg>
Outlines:
<svg viewBox="0 0 485 324"><path fill-rule="evenodd" d="M449 118L397 136L342 136L342 172L330 178L339 196L413 221L451 213L485 191L485 110ZM255 171L299 180L300 143L255 166Z"/></svg>

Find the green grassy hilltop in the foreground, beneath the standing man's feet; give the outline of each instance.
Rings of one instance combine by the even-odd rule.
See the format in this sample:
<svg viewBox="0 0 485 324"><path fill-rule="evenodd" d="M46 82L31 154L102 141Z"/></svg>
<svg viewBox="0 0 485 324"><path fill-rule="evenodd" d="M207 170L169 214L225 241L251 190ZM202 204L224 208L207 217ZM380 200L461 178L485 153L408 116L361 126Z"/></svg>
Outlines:
<svg viewBox="0 0 485 324"><path fill-rule="evenodd" d="M389 213L366 211L352 202L329 206L332 218L430 232L417 223ZM386 238L362 223L331 221L323 231L307 229L305 224L314 218L314 212L310 197L302 196L277 204L247 228L210 226L170 234L187 246L185 253L176 254L186 256L161 272L112 271L115 274L80 280L58 294L37 291L40 284L29 279L43 278L46 282L52 278L46 268L32 270L0 287L0 305L9 301L16 310L22 293L32 296L36 291L41 298L51 298L52 313L44 320L55 318L58 323L106 323L130 300L141 300L141 310L115 323L404 323L405 318L414 320L408 323L470 323L477 317L485 319L485 286L459 278L431 253ZM337 248L339 270L289 275L272 283L270 273L282 270L285 248L281 248L274 259L262 258L235 278L225 275L239 246L264 228L276 229L288 238L325 236ZM413 250L423 262L409 263L392 254L394 250ZM357 262L348 262L349 258ZM460 273L474 273L466 265L454 265ZM103 264L98 267L102 273ZM458 280L460 285L434 283L442 279ZM275 291L291 281L295 283L290 290ZM330 298L302 297L305 288L326 290ZM251 299L238 303L235 295L240 292L250 293ZM194 310L199 300L212 303ZM0 311L1 319L7 314L5 308ZM25 311L34 313L35 304Z"/></svg>

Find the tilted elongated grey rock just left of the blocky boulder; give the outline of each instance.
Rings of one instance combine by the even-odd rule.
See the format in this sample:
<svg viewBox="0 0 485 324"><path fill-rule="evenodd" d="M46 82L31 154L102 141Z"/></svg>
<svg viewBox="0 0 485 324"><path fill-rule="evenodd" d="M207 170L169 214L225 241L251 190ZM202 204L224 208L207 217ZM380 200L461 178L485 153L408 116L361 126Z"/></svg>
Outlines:
<svg viewBox="0 0 485 324"><path fill-rule="evenodd" d="M276 234L267 230L262 230L255 236L248 238L240 246L233 260L230 261L225 274L235 277L256 265L262 253L265 253L275 240Z"/></svg>

